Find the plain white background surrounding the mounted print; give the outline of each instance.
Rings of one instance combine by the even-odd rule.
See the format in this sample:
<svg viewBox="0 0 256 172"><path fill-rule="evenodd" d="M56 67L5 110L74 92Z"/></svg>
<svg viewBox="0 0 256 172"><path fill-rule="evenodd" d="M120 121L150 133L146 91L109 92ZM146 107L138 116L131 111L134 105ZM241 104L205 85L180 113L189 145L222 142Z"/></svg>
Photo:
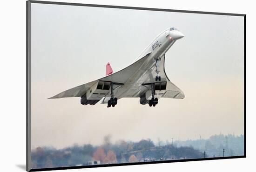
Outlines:
<svg viewBox="0 0 256 172"><path fill-rule="evenodd" d="M64 1L65 0L59 0ZM247 14L247 158L181 162L152 165L131 165L91 169L66 170L74 172L130 171L254 171L256 139L254 131L255 31L256 11L249 0L66 0L67 2L152 7ZM5 0L0 6L0 166L1 171L25 171L26 166L26 1Z"/></svg>

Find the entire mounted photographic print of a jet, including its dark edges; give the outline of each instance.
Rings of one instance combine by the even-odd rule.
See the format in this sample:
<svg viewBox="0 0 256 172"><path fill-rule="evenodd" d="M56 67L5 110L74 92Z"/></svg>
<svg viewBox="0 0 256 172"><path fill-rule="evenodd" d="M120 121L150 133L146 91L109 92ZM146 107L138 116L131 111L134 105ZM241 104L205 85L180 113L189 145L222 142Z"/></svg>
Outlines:
<svg viewBox="0 0 256 172"><path fill-rule="evenodd" d="M27 1L27 171L245 157L244 28Z"/></svg>

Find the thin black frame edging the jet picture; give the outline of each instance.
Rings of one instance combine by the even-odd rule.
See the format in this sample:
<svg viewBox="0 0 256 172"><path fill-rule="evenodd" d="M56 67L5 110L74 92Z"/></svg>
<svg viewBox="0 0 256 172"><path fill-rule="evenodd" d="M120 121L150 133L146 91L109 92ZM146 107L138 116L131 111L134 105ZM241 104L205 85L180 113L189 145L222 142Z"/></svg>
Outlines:
<svg viewBox="0 0 256 172"><path fill-rule="evenodd" d="M199 13L199 14L213 14L213 15L229 15L229 16L242 16L244 19L244 155L243 156L230 156L230 157L216 157L216 158L200 158L200 159L175 159L175 160L162 160L151 162L135 162L135 163L120 163L120 164L103 164L103 165L82 165L82 166L68 166L68 167L54 167L54 168L38 168L31 169L29 162L31 162L31 4L54 4L54 5L68 5L68 6L84 6L84 7L103 7L103 8L119 8L119 9L134 9L134 10L148 10L148 11L164 11L164 12L179 12L179 13ZM172 162L188 162L188 161L202 161L213 159L237 159L246 158L246 14L238 13L215 13L215 12L202 12L202 11L187 11L187 10L174 10L174 9L159 9L159 8L145 8L145 7L124 7L124 6L110 6L110 5L97 5L97 4L81 4L81 3L67 3L67 2L53 2L53 1L37 1L27 0L27 29L26 29L26 170L28 172L36 171L50 171L50 170L65 170L65 169L81 169L81 168L95 168L95 167L108 167L108 166L123 166L123 165L143 165L143 164L159 164L159 163L172 163Z"/></svg>

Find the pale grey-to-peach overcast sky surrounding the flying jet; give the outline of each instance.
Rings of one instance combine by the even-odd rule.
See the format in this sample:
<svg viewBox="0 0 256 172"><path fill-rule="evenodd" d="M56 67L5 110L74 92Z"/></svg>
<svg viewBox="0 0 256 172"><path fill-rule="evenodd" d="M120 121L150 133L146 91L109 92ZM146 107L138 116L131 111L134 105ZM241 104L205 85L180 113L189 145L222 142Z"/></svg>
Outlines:
<svg viewBox="0 0 256 172"><path fill-rule="evenodd" d="M47 99L130 63L164 29L185 37L166 54L168 78L185 99L138 98L82 106ZM32 148L100 145L142 138L198 139L243 134L243 17L32 3Z"/></svg>

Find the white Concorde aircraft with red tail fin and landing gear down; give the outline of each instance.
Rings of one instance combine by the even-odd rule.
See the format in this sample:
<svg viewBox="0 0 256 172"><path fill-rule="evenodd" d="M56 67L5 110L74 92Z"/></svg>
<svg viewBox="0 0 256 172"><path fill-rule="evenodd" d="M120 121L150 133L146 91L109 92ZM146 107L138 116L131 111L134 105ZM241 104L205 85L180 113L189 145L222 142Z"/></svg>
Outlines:
<svg viewBox="0 0 256 172"><path fill-rule="evenodd" d="M184 93L168 79L165 53L184 35L175 27L160 33L129 66L113 73L108 63L103 78L76 86L49 99L81 97L82 105L101 103L115 107L121 98L140 98L142 105L158 104L160 98L183 99Z"/></svg>

